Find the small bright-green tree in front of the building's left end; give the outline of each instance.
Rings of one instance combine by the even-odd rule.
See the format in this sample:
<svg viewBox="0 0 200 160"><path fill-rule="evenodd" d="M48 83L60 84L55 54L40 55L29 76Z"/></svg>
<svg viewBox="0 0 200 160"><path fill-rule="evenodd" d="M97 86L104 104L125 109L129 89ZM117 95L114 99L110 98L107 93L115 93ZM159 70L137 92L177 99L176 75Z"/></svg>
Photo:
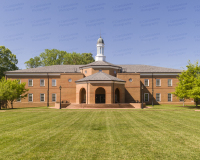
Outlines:
<svg viewBox="0 0 200 160"><path fill-rule="evenodd" d="M27 97L28 89L25 89L25 85L26 83L20 84L19 80L6 80L3 77L0 81L0 101L4 104L9 101L11 103L11 107L13 108L14 100Z"/></svg>

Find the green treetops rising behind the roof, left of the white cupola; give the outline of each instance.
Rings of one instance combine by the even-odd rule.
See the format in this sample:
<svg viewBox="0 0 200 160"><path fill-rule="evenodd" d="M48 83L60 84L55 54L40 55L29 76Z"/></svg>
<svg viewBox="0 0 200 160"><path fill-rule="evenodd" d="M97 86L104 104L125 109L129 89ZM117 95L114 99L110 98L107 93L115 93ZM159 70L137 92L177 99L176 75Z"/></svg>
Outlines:
<svg viewBox="0 0 200 160"><path fill-rule="evenodd" d="M76 65L76 64L88 64L94 62L94 58L91 53L67 53L66 51L60 51L57 49L45 49L39 56L31 58L26 61L27 68L36 68L39 66L51 66L51 65Z"/></svg>

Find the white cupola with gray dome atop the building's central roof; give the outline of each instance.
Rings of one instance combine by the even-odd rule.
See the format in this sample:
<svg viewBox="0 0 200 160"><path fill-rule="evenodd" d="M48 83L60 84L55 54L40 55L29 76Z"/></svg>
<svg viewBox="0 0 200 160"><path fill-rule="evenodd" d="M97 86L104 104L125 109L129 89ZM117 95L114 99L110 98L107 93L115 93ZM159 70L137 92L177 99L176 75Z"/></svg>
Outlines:
<svg viewBox="0 0 200 160"><path fill-rule="evenodd" d="M97 55L95 56L95 61L106 61L106 56L104 56L104 41L101 36L97 40Z"/></svg>

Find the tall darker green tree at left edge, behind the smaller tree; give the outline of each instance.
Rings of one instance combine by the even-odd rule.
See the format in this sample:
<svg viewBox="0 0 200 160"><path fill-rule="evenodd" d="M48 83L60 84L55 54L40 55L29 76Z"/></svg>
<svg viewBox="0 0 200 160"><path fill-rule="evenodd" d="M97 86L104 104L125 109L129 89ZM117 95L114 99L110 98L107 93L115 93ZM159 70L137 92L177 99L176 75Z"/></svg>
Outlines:
<svg viewBox="0 0 200 160"><path fill-rule="evenodd" d="M5 76L5 71L18 70L17 63L16 55L5 46L0 46L0 79Z"/></svg>

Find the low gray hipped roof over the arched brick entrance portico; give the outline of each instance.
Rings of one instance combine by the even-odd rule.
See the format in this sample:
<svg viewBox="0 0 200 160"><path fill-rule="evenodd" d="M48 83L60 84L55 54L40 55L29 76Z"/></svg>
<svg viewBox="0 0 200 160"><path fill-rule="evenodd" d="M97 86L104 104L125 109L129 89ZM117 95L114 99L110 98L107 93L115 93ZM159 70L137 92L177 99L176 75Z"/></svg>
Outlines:
<svg viewBox="0 0 200 160"><path fill-rule="evenodd" d="M87 76L85 78L79 79L76 82L84 82L84 81L119 81L119 82L126 82L122 79L111 76L111 75L106 74L104 72L97 72L97 73L92 74L90 76Z"/></svg>

